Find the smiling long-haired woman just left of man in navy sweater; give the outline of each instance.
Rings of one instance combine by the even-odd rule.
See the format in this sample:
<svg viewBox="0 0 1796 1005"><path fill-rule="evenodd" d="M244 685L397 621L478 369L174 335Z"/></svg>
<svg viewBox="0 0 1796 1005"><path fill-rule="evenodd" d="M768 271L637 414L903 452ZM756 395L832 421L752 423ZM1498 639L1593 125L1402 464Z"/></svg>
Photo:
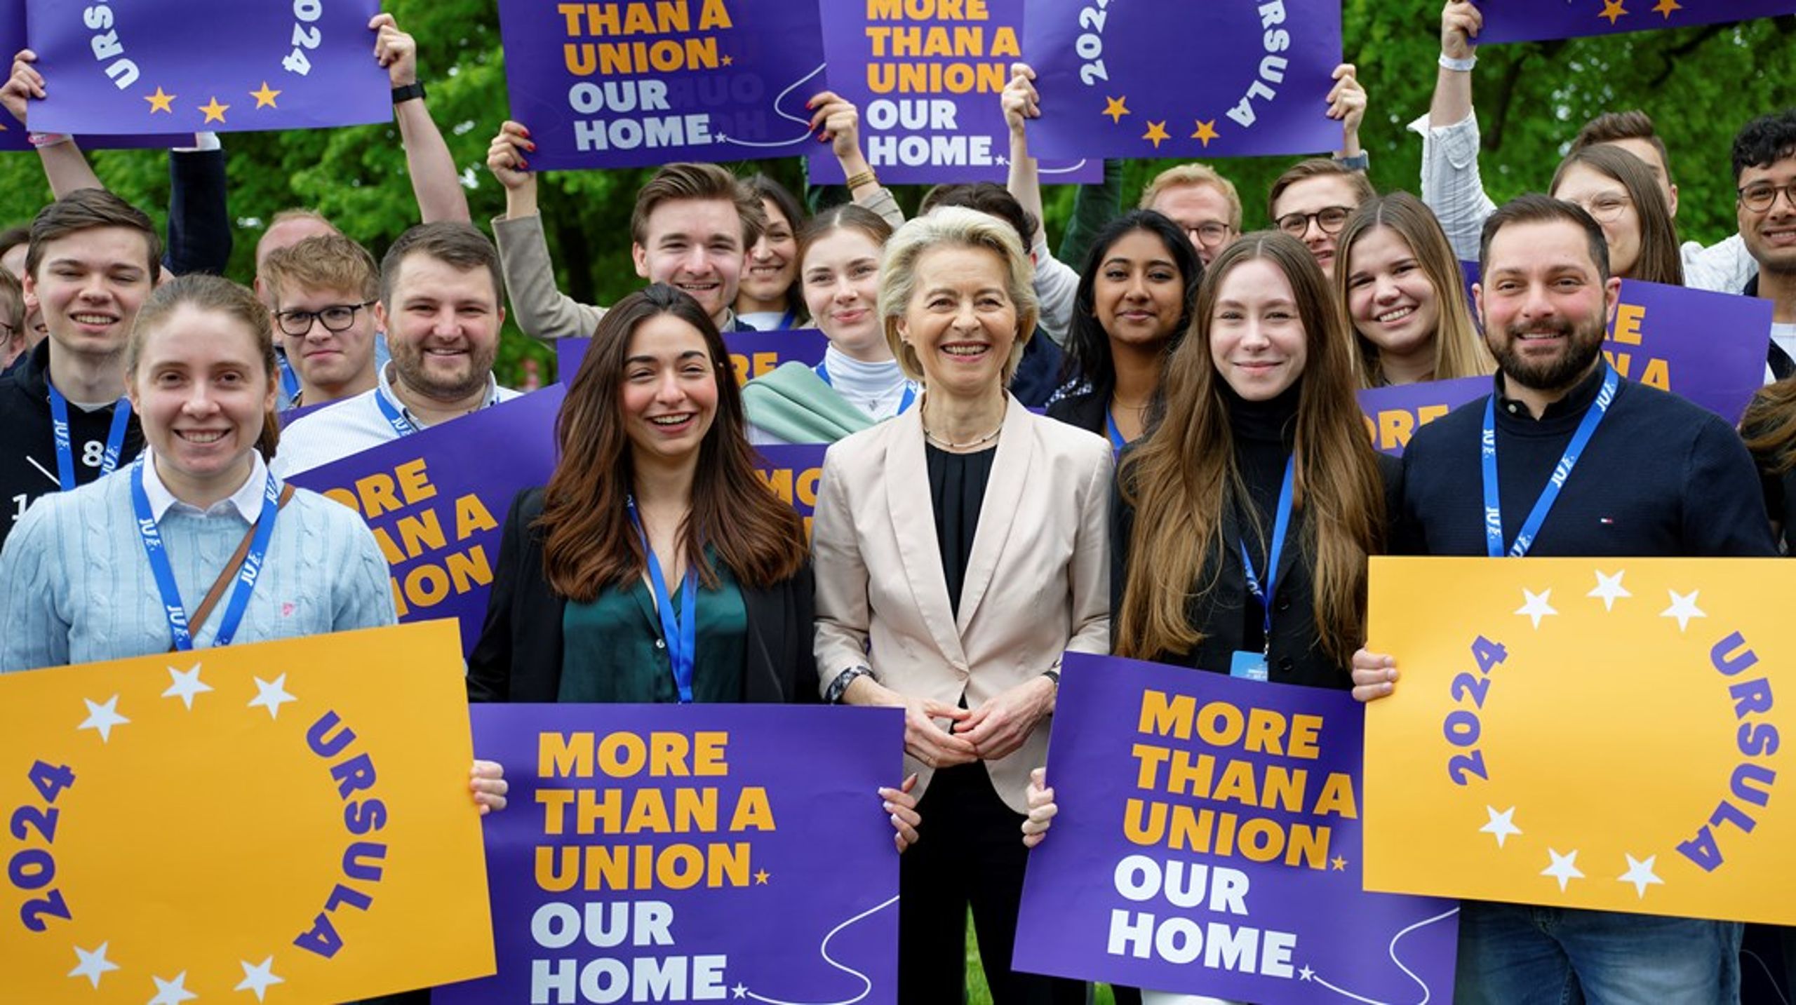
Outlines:
<svg viewBox="0 0 1796 1005"><path fill-rule="evenodd" d="M1336 246L1334 291L1360 350L1358 386L1491 373L1453 246L1421 199L1374 196L1347 219Z"/></svg>

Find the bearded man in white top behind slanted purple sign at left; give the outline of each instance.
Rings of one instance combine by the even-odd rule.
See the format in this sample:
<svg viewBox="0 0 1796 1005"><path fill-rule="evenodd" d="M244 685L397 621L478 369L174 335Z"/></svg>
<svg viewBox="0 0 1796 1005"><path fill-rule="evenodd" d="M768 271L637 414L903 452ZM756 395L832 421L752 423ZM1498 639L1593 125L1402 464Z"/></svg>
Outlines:
<svg viewBox="0 0 1796 1005"><path fill-rule="evenodd" d="M289 477L418 429L510 400L492 379L505 325L499 253L465 223L427 223L399 235L381 260L374 316L393 359L379 384L300 416L269 465Z"/></svg>

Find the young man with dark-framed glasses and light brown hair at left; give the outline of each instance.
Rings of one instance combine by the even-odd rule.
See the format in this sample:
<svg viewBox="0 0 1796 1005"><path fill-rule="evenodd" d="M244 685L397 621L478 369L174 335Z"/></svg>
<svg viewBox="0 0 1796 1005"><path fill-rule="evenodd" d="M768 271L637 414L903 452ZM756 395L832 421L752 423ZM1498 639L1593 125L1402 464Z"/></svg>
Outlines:
<svg viewBox="0 0 1796 1005"><path fill-rule="evenodd" d="M278 248L260 275L275 337L298 377L293 407L352 398L375 384L379 266L361 244L327 233Z"/></svg>

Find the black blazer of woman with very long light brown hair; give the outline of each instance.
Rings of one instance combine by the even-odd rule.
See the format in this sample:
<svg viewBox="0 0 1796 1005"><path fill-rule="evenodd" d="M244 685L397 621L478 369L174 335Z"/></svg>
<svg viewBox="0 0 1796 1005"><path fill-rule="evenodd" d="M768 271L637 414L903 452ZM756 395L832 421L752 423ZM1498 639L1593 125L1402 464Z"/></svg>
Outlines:
<svg viewBox="0 0 1796 1005"><path fill-rule="evenodd" d="M1379 454L1378 472L1385 479L1385 538L1388 546L1403 499L1403 463L1397 458ZM1122 502L1121 492L1117 492L1110 501L1112 617L1122 601L1133 522L1135 511ZM1349 689L1352 687L1349 668L1329 657L1316 637L1315 580L1311 578L1315 555L1306 544L1309 528L1304 513L1291 515L1288 533L1284 555L1279 558L1279 596L1272 601L1266 677L1279 684ZM1157 653L1155 662L1228 673L1232 655L1241 648L1245 607L1254 603L1246 592L1241 549L1236 546L1241 540L1241 529L1234 506L1223 506L1219 540L1223 555L1207 556L1203 572L1198 576L1198 585L1209 583L1211 576L1214 576L1214 585L1209 592L1193 596L1187 608L1187 617L1203 632L1203 641L1189 653Z"/></svg>

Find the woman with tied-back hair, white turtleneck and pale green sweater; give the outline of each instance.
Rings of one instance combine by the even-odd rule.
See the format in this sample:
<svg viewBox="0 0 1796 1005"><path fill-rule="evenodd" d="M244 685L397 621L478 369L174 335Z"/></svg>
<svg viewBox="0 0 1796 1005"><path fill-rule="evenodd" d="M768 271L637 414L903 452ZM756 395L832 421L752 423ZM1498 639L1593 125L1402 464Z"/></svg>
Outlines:
<svg viewBox="0 0 1796 1005"><path fill-rule="evenodd" d="M830 348L815 366L787 363L742 388L751 443L835 443L916 406L921 388L893 357L876 310L891 233L857 205L830 206L805 223L799 282Z"/></svg>

